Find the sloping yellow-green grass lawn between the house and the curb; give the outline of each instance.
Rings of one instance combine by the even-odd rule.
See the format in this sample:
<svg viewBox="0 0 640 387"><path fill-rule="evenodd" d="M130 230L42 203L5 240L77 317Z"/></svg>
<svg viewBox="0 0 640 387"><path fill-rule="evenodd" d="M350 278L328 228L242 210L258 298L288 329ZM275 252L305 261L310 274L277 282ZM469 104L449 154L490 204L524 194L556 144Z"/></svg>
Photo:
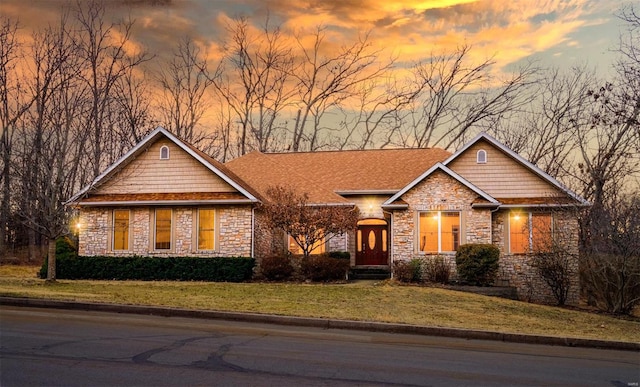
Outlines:
<svg viewBox="0 0 640 387"><path fill-rule="evenodd" d="M640 320L393 282L347 284L68 281L0 266L0 295L380 321L640 342Z"/></svg>

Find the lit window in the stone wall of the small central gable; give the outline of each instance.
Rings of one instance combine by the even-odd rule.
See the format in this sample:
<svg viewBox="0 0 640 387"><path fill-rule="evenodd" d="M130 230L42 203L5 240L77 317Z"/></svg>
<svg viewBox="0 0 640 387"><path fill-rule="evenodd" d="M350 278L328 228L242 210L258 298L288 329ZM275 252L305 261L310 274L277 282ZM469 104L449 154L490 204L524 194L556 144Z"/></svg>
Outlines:
<svg viewBox="0 0 640 387"><path fill-rule="evenodd" d="M419 247L422 252L453 252L460 246L459 212L421 212L418 228Z"/></svg>

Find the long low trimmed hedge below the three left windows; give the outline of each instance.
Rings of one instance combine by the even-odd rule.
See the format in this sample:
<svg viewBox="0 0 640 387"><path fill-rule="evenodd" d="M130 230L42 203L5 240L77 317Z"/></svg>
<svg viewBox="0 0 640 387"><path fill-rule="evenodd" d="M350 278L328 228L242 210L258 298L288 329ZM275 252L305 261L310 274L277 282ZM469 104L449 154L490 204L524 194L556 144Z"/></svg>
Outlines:
<svg viewBox="0 0 640 387"><path fill-rule="evenodd" d="M255 259L241 257L56 257L58 279L242 282ZM47 261L40 278L47 276Z"/></svg>

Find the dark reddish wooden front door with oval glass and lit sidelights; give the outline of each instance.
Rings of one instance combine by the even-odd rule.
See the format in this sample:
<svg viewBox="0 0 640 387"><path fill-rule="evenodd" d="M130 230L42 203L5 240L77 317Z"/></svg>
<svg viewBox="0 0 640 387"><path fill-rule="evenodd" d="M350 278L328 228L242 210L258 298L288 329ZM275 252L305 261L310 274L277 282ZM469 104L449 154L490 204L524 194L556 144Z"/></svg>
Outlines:
<svg viewBox="0 0 640 387"><path fill-rule="evenodd" d="M356 235L356 265L388 265L386 225L360 225Z"/></svg>

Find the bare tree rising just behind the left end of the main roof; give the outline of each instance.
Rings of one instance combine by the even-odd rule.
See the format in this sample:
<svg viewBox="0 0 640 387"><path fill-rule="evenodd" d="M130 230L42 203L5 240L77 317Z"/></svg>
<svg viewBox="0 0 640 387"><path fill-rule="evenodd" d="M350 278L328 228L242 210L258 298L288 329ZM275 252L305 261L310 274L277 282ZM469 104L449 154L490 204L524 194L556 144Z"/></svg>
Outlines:
<svg viewBox="0 0 640 387"><path fill-rule="evenodd" d="M268 18L260 32L251 31L247 18L234 20L227 32L230 37L213 84L232 113L229 122L238 125L237 155L251 149L281 149L284 126L279 120L292 96L288 85L292 51Z"/></svg>

